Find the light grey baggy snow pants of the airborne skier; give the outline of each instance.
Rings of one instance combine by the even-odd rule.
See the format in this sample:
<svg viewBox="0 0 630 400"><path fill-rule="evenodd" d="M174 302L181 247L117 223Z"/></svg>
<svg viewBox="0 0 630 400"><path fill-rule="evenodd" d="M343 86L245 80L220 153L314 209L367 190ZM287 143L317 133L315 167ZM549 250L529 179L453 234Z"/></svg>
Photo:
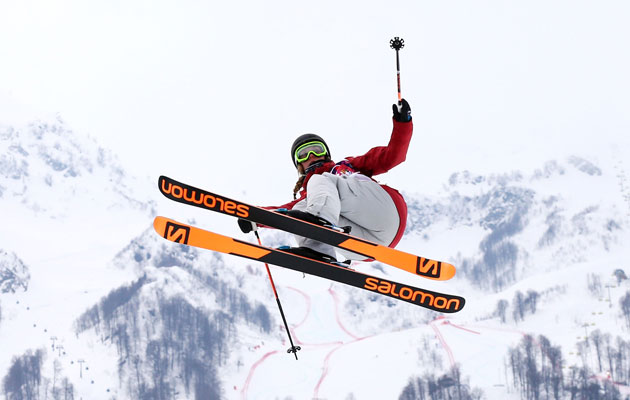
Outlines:
<svg viewBox="0 0 630 400"><path fill-rule="evenodd" d="M306 185L306 199L293 209L306 211L338 226L351 226L351 235L388 246L396 237L400 217L389 193L361 174L313 175ZM335 249L313 239L296 236L298 246L336 257L363 260L364 256Z"/></svg>

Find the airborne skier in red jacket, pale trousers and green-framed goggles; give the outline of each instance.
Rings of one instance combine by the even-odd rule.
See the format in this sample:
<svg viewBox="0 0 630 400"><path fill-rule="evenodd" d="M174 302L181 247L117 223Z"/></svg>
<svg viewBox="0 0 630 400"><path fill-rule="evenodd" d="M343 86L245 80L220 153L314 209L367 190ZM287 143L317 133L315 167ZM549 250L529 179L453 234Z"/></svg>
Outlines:
<svg viewBox="0 0 630 400"><path fill-rule="evenodd" d="M351 234L379 244L395 247L407 222L407 205L395 189L377 183L372 177L385 173L405 161L413 131L411 108L401 100L393 105L393 131L387 146L374 147L356 157L334 162L320 136L307 133L291 146L291 158L299 179L293 190L294 200L280 207L292 217L316 224L330 223L351 227ZM298 197L299 194L299 197ZM239 220L244 233L252 223ZM335 248L313 239L296 236L298 247L283 249L304 257L337 263ZM337 249L348 260L364 256Z"/></svg>

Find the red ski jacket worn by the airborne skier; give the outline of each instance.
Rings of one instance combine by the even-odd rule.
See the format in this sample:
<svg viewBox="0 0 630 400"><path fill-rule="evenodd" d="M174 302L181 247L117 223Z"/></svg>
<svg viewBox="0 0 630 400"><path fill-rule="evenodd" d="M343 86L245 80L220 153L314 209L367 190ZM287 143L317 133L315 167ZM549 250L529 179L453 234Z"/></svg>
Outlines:
<svg viewBox="0 0 630 400"><path fill-rule="evenodd" d="M372 178L374 175L385 173L405 161L405 159L407 158L407 150L409 149L409 142L411 141L411 135L413 133L413 122L398 122L396 120L393 121L394 128L392 130L392 136L389 139L389 143L387 144L387 146L374 147L362 156L346 157L340 163L329 161L323 164L322 166L315 169L315 171L309 173L304 179L299 198L282 206L273 208L286 208L290 210L293 208L293 206L295 206L296 203L304 200L306 198L306 185L311 176L313 176L314 174L331 172L333 168L341 166L342 168L350 169L351 172L359 172L365 176ZM381 184L381 186L392 197L392 200L396 205L396 209L398 210L398 216L400 217L400 224L398 226L396 236L394 237L394 240L389 244L389 247L395 247L398 242L400 242L400 239L402 238L402 235L405 232L405 227L407 225L407 203L405 203L405 199L396 189L393 189L383 184Z"/></svg>

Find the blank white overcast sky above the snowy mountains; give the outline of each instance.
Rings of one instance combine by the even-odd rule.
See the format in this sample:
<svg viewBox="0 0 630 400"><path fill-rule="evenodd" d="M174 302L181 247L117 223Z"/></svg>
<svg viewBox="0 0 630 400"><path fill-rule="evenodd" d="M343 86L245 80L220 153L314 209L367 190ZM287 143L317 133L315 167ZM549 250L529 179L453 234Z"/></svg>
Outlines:
<svg viewBox="0 0 630 400"><path fill-rule="evenodd" d="M414 138L382 180L431 192L628 143L628 21L625 0L2 0L0 123L57 113L132 173L278 204L297 135L387 143L401 36Z"/></svg>

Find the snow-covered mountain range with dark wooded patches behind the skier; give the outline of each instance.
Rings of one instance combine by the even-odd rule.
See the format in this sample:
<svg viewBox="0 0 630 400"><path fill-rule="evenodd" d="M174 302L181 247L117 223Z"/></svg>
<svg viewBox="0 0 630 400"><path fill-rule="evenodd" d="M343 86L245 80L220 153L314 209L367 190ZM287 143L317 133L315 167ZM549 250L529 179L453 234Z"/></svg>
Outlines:
<svg viewBox="0 0 630 400"><path fill-rule="evenodd" d="M59 119L1 126L2 393L626 398L630 187L615 154L456 172L439 193L407 188L399 248L452 262L455 278L353 268L461 294L458 314L272 266L302 347L296 361L263 265L176 245L151 228L156 214L222 232L234 221L159 198L157 176L134 178Z"/></svg>

